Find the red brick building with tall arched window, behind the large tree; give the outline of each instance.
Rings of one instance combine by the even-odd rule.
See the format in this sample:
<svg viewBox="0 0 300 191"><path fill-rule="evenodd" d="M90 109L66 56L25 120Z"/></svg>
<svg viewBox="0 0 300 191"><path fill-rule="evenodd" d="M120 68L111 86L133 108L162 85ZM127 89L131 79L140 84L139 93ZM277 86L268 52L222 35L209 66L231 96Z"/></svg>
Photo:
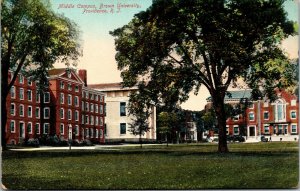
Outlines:
<svg viewBox="0 0 300 191"><path fill-rule="evenodd" d="M299 100L296 95L284 90L276 90L277 99L251 101L251 91L231 91L225 103L237 105L248 102L244 113L228 118L227 135L243 135L248 141L260 141L262 135L272 141L298 141L299 139ZM242 100L242 101L241 101ZM207 108L211 99L207 99Z"/></svg>

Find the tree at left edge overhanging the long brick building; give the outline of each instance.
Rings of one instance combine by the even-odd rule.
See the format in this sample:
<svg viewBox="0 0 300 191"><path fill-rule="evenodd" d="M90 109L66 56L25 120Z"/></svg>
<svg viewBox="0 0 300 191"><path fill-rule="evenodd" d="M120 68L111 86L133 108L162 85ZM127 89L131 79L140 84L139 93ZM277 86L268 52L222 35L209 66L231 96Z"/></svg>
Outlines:
<svg viewBox="0 0 300 191"><path fill-rule="evenodd" d="M56 61L76 65L81 51L76 24L54 13L49 1L3 0L1 7L1 144L5 149L6 98L18 74L47 72Z"/></svg>

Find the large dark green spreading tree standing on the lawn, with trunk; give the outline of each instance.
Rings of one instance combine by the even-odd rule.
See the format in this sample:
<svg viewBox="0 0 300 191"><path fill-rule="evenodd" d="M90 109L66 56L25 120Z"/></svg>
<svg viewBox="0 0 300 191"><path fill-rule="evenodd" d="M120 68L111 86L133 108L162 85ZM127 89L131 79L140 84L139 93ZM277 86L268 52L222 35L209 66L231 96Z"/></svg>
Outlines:
<svg viewBox="0 0 300 191"><path fill-rule="evenodd" d="M216 112L218 151L228 152L224 115L228 87L243 78L254 92L272 93L282 82L281 69L289 66L279 45L294 34L294 28L283 3L154 0L146 11L111 32L124 84L130 87L143 79L147 96L156 103L185 101L189 92L204 85Z"/></svg>

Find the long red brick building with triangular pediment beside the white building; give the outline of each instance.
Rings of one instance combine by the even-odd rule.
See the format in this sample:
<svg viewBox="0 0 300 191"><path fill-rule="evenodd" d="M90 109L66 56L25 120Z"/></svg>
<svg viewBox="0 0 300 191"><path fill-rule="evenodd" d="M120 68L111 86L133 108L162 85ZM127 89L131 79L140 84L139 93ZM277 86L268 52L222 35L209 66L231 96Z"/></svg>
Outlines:
<svg viewBox="0 0 300 191"><path fill-rule="evenodd" d="M53 69L48 80L41 96L35 82L18 75L7 98L7 143L47 135L103 143L104 94L87 87L86 70Z"/></svg>

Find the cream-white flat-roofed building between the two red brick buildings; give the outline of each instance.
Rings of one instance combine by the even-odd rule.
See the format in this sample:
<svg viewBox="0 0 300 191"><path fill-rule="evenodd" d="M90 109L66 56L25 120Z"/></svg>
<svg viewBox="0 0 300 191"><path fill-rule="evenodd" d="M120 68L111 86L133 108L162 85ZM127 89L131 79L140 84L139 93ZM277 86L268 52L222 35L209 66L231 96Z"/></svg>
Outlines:
<svg viewBox="0 0 300 191"><path fill-rule="evenodd" d="M129 124L134 116L128 115L127 106L131 92L137 91L137 87L122 87L120 83L91 84L88 87L105 94L106 97L106 142L138 142L139 135L129 132ZM142 136L143 141L156 140L156 108L152 107L149 117L150 130Z"/></svg>

